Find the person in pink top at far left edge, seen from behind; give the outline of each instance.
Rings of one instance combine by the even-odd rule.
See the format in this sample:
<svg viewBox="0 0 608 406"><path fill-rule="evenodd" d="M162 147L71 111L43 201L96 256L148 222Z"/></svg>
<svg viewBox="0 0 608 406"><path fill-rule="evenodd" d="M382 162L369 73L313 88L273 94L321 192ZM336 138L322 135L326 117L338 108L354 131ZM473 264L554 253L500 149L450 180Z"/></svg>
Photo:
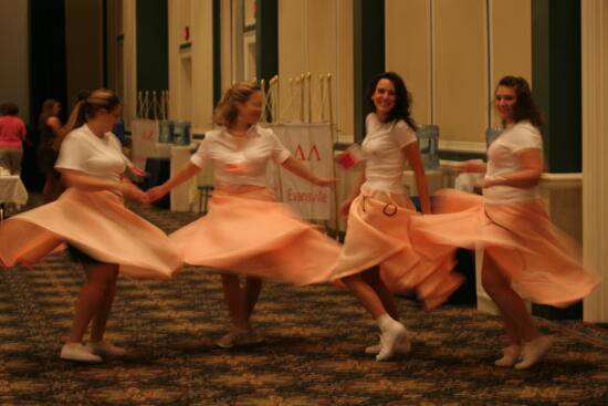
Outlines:
<svg viewBox="0 0 608 406"><path fill-rule="evenodd" d="M2 105L0 117L0 167L11 175L21 174L23 158L23 142L25 140L25 123L17 115L19 106L14 103Z"/></svg>

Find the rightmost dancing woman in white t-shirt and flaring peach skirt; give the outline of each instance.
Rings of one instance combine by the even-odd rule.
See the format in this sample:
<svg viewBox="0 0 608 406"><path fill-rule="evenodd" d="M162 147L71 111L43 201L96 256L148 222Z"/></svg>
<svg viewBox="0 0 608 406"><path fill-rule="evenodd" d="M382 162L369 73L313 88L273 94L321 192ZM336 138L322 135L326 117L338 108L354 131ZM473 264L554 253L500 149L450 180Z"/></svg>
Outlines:
<svg viewBox="0 0 608 406"><path fill-rule="evenodd" d="M448 249L484 248L482 284L499 308L509 342L495 364L525 369L552 342L536 329L511 283L536 303L566 306L587 295L599 280L584 271L579 247L551 222L539 199L545 167L542 117L525 79L503 77L494 107L504 132L488 148L488 165L465 162L460 167L485 173L483 197L442 192L436 212L455 214L424 218L415 225L413 235Z"/></svg>

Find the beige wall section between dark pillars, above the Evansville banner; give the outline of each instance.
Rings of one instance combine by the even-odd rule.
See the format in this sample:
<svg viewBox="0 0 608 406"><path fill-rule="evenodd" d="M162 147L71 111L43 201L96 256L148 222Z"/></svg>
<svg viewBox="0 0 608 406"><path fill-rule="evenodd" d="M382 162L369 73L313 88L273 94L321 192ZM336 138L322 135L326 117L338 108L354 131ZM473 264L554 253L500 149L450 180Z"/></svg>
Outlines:
<svg viewBox="0 0 608 406"><path fill-rule="evenodd" d="M318 76L332 75L332 113L338 135L353 139L353 2L279 1L279 76L282 117L292 117L290 77L311 73L313 121L318 114ZM327 113L328 115L328 113ZM307 115L306 115L307 117Z"/></svg>

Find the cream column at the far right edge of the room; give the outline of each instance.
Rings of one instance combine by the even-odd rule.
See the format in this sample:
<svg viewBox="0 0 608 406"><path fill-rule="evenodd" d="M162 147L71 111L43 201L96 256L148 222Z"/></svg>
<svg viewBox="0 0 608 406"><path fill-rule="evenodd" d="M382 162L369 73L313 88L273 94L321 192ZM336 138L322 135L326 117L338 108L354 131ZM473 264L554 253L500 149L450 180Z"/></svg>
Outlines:
<svg viewBox="0 0 608 406"><path fill-rule="evenodd" d="M608 0L581 2L583 243L602 283L584 301L587 322L608 322Z"/></svg>

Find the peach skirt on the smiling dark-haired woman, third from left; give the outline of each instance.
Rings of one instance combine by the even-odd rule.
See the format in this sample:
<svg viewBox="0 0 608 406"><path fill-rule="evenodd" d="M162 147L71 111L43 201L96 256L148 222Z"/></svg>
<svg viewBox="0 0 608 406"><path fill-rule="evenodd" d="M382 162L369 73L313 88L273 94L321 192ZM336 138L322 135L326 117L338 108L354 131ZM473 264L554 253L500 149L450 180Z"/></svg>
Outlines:
<svg viewBox="0 0 608 406"><path fill-rule="evenodd" d="M452 272L453 252L424 256L410 238L412 218L421 217L407 195L361 189L350 205L346 240L333 280L380 266L387 287L416 291L427 309L444 302L462 283ZM427 247L432 252L432 247Z"/></svg>

